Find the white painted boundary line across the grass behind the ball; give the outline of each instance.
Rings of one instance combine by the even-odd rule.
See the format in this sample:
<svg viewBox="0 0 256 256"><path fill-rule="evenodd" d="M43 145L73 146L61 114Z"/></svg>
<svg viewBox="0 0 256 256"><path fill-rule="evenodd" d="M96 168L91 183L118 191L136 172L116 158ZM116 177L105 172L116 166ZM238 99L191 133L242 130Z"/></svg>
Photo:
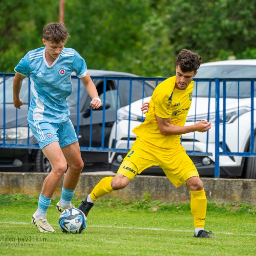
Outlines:
<svg viewBox="0 0 256 256"><path fill-rule="evenodd" d="M0 224L20 224L20 225L29 225L31 223L27 222L13 222L13 221L0 221ZM56 224L51 224L52 226L58 226ZM119 227L119 226L100 226L100 225L87 225L90 228L120 228L120 229L142 229L142 230L159 230L159 231L169 231L169 232L193 232L193 230L181 230L181 229L164 229L164 228L136 228L136 227ZM235 235L235 236L256 236L256 234L240 234L232 232L214 232L215 234L224 234L224 235Z"/></svg>

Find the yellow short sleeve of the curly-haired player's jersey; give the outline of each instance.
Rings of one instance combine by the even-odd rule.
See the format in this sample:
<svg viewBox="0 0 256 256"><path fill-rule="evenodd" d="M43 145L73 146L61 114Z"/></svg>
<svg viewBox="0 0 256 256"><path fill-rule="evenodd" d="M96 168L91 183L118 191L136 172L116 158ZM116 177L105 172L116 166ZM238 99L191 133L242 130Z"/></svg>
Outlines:
<svg viewBox="0 0 256 256"><path fill-rule="evenodd" d="M155 115L161 118L168 119L172 116L172 105L170 96L164 93L156 94L154 98Z"/></svg>

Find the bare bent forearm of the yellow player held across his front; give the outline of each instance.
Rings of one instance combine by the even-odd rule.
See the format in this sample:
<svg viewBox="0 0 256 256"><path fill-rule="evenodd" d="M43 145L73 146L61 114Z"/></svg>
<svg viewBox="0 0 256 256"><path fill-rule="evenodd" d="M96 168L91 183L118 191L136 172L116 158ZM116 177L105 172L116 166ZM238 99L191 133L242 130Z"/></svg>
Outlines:
<svg viewBox="0 0 256 256"><path fill-rule="evenodd" d="M211 122L199 121L196 124L188 126L177 126L170 124L171 118L165 119L159 116L156 116L156 121L159 127L159 130L162 135L181 135L189 132L206 132L211 127Z"/></svg>

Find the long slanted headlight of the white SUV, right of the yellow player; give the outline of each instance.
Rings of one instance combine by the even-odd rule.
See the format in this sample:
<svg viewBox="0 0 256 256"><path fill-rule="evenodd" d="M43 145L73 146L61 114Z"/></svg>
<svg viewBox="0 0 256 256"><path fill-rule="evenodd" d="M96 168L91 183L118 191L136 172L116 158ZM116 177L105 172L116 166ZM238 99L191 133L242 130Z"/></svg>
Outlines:
<svg viewBox="0 0 256 256"><path fill-rule="evenodd" d="M226 110L226 124L233 123L238 116L243 115L244 113L251 111L249 107L240 107L240 108L231 108ZM199 122L201 120L208 120L208 114L201 114L196 116L187 116L187 122ZM223 124L223 111L220 111L220 124ZM212 125L215 125L216 117L215 112L209 114L209 121L211 121Z"/></svg>

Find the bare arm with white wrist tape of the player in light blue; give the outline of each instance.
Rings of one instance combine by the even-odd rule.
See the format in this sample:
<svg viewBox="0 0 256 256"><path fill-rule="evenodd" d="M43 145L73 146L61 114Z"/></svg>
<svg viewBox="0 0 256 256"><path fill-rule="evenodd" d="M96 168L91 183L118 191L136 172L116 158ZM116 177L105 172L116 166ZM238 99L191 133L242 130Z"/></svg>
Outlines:
<svg viewBox="0 0 256 256"><path fill-rule="evenodd" d="M81 78L81 81L83 82L84 87L85 87L86 91L88 92L89 96L92 98L90 105L92 106L93 109L99 108L101 106L101 100L99 98L96 86L92 82L91 76L89 75L88 72L87 72L86 76Z"/></svg>

